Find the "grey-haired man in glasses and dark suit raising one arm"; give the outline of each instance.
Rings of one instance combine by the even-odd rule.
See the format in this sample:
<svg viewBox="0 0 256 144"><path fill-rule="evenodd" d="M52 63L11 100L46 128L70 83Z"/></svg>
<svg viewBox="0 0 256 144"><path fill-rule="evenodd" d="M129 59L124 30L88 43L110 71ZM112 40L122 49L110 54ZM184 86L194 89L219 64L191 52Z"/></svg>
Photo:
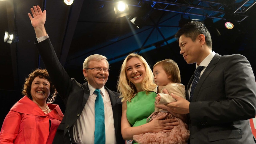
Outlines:
<svg viewBox="0 0 256 144"><path fill-rule="evenodd" d="M34 9L33 9L34 8ZM121 136L122 103L119 94L105 87L108 80L109 63L102 55L91 55L83 63L83 75L88 82L80 84L68 76L61 66L50 39L45 31L44 24L46 11L39 6L31 8L29 18L34 27L37 41L36 47L43 59L53 85L64 101L66 111L59 125L53 143L125 143ZM100 90L100 95L96 92ZM95 142L95 113L96 97L103 99L104 111L103 126L105 138L103 142ZM103 105L102 102L102 105ZM95 111L94 111L95 110ZM105 122L105 124L104 124Z"/></svg>

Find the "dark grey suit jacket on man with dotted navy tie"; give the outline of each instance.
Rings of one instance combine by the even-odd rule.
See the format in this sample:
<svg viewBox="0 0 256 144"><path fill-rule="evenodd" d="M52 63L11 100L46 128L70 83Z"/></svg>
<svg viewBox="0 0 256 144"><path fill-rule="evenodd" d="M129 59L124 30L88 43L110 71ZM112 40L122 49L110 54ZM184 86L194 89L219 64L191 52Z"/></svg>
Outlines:
<svg viewBox="0 0 256 144"><path fill-rule="evenodd" d="M190 143L256 143L248 120L255 117L255 106L256 83L249 61L242 55L216 54L189 105Z"/></svg>

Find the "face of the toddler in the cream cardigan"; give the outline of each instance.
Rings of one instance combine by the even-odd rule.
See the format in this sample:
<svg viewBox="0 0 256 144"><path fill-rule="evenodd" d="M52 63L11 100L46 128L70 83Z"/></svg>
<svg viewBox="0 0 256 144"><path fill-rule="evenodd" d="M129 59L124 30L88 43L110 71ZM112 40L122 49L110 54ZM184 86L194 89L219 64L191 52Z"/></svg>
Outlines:
<svg viewBox="0 0 256 144"><path fill-rule="evenodd" d="M167 75L162 65L156 65L153 68L154 80L157 86L166 86L169 83L172 83L170 80L171 75Z"/></svg>

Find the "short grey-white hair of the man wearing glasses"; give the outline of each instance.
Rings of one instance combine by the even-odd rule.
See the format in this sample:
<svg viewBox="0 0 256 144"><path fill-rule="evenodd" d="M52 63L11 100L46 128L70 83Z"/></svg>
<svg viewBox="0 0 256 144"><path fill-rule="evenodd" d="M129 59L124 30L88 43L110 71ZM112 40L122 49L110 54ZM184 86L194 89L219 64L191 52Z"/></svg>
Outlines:
<svg viewBox="0 0 256 144"><path fill-rule="evenodd" d="M90 61L101 61L102 59L104 59L107 64L108 64L108 68L109 68L109 63L108 63L108 58L106 58L105 56L102 56L102 55L99 55L99 54L94 54L94 55L91 55L91 56L88 56L84 62L83 62L83 69L88 69L89 68L89 62ZM87 81L87 78L84 77L84 80Z"/></svg>

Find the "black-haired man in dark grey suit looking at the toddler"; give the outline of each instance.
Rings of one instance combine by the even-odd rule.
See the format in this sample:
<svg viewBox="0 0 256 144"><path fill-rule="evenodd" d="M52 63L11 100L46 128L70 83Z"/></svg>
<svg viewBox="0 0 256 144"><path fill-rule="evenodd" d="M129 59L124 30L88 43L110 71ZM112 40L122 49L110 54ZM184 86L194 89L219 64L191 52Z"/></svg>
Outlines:
<svg viewBox="0 0 256 144"><path fill-rule="evenodd" d="M187 114L189 143L256 143L249 123L256 114L256 83L249 61L212 51L211 35L200 22L187 23L176 38L184 60L202 68L188 83L187 100L172 94L178 101L167 105L175 113ZM194 80L196 75L200 77Z"/></svg>

